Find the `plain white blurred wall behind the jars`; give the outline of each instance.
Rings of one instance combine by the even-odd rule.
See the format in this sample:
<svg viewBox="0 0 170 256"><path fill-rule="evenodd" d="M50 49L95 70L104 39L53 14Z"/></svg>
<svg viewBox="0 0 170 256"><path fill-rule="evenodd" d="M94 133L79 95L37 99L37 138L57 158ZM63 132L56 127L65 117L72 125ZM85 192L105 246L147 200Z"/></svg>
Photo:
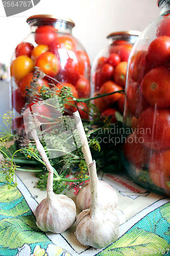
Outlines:
<svg viewBox="0 0 170 256"><path fill-rule="evenodd" d="M92 65L99 51L109 44L108 34L124 30L142 31L159 13L157 0L41 0L25 12L6 17L1 1L0 63L10 66L15 47L30 32L26 19L31 15L53 14L74 20L76 26L72 34L82 42ZM9 82L1 79L0 114L9 109Z"/></svg>

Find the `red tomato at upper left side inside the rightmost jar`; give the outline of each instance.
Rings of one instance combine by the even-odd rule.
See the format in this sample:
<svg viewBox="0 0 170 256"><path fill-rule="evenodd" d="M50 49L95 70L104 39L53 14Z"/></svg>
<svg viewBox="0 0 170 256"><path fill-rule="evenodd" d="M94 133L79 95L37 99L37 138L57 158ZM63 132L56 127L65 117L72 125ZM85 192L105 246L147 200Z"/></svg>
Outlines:
<svg viewBox="0 0 170 256"><path fill-rule="evenodd" d="M135 82L141 82L146 69L146 51L137 51L131 58L130 65L129 65L129 76Z"/></svg>

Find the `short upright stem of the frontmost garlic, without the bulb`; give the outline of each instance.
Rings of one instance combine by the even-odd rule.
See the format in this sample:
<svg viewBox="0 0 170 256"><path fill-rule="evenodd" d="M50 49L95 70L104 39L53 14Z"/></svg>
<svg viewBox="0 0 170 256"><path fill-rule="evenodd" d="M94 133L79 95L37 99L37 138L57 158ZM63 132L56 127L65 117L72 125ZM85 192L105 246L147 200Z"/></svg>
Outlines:
<svg viewBox="0 0 170 256"><path fill-rule="evenodd" d="M95 161L93 161L89 166L89 179L90 179L90 218L93 218L98 209L98 176L96 173Z"/></svg>

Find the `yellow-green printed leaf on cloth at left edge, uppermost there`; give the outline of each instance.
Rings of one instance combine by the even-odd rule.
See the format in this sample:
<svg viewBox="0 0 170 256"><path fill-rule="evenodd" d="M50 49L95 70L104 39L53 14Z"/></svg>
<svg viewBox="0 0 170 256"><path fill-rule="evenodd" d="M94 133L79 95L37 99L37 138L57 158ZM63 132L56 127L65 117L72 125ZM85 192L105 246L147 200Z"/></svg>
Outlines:
<svg viewBox="0 0 170 256"><path fill-rule="evenodd" d="M9 203L13 200L19 199L22 197L20 191L17 187L11 187L9 190L7 189L7 185L0 187L0 203Z"/></svg>

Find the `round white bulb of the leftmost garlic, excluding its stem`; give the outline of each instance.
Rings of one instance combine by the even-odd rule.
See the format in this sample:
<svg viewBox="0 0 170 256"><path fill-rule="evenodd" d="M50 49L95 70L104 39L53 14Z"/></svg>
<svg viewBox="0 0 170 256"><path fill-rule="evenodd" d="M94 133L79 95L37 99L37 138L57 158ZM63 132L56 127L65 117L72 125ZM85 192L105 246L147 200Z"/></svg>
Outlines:
<svg viewBox="0 0 170 256"><path fill-rule="evenodd" d="M76 205L65 195L47 193L35 210L36 224L44 232L62 233L75 223Z"/></svg>

